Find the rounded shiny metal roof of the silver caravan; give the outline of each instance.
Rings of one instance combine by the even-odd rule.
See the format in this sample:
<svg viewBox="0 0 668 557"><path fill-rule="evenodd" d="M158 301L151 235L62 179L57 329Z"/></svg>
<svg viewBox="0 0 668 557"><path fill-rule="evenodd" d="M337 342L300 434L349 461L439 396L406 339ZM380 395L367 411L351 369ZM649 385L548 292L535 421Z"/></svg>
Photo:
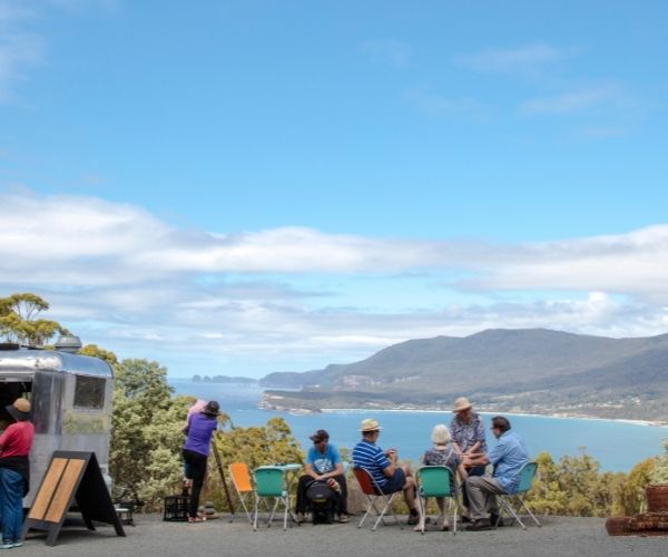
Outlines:
<svg viewBox="0 0 668 557"><path fill-rule="evenodd" d="M69 354L55 350L0 350L0 373L55 371L77 375L112 378L111 367L99 358Z"/></svg>

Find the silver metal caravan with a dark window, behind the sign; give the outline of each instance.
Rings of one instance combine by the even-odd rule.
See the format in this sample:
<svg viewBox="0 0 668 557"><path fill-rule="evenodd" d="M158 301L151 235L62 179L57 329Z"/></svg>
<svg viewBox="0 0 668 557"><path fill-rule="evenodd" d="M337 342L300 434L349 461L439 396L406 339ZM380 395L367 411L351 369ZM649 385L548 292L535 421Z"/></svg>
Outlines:
<svg viewBox="0 0 668 557"><path fill-rule="evenodd" d="M111 367L98 358L0 346L0 429L17 398L31 403L35 441L30 452L30 507L55 450L95 451L108 473L111 432ZM3 422L3 423L2 423Z"/></svg>

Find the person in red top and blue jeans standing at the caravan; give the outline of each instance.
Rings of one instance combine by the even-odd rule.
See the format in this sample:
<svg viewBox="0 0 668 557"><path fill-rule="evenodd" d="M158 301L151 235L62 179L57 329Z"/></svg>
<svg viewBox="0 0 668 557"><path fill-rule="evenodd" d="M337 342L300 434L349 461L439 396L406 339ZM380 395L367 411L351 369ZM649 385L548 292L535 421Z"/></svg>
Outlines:
<svg viewBox="0 0 668 557"><path fill-rule="evenodd" d="M2 544L0 549L23 545L23 497L30 489L30 460L28 455L35 438L30 420L30 402L17 399L6 407L16 423L0 436L0 520Z"/></svg>

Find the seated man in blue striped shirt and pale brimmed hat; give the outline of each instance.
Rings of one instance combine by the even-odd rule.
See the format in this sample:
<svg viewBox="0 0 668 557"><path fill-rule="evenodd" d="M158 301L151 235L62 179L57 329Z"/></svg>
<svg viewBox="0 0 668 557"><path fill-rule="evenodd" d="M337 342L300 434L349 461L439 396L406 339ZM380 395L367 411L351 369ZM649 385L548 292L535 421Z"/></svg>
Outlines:
<svg viewBox="0 0 668 557"><path fill-rule="evenodd" d="M383 451L375 442L381 434L381 426L376 420L362 420L360 428L362 441L353 449L353 465L365 468L383 494L402 491L411 511L409 524L418 524L419 515L415 508L415 482L407 465L396 463L396 450Z"/></svg>

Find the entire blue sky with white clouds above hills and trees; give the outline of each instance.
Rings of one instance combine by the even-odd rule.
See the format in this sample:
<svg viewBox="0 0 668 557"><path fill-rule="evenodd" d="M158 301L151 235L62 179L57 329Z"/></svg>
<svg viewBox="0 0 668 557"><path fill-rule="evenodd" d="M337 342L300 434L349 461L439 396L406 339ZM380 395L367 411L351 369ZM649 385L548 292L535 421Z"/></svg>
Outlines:
<svg viewBox="0 0 668 557"><path fill-rule="evenodd" d="M665 333L667 16L0 0L0 293L174 375Z"/></svg>

